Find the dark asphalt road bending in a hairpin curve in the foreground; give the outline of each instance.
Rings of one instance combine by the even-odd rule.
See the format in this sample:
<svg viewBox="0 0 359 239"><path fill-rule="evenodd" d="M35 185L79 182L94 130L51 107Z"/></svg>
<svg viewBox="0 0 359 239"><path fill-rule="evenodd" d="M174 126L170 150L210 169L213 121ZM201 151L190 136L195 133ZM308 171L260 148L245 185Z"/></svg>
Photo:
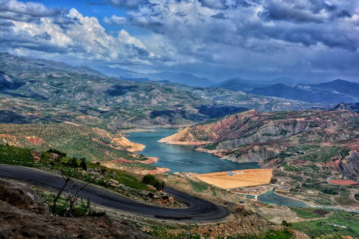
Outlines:
<svg viewBox="0 0 359 239"><path fill-rule="evenodd" d="M59 175L45 173L31 168L3 164L0 164L0 178L16 179L50 191L56 191L64 183L64 180ZM80 187L83 185L80 181L77 181L76 184ZM215 222L229 215L227 209L214 203L169 187L165 188L165 192L175 199L186 203L188 207L183 209L170 209L151 206L92 185L88 185L84 190L79 192L79 196L84 199L90 197L92 205L161 220Z"/></svg>

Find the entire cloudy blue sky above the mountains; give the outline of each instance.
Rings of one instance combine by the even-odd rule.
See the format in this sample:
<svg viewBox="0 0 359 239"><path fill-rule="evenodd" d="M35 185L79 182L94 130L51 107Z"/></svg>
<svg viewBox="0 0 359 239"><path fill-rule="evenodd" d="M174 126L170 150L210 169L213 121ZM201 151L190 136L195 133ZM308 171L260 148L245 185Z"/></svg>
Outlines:
<svg viewBox="0 0 359 239"><path fill-rule="evenodd" d="M0 0L0 51L213 82L359 81L359 1Z"/></svg>

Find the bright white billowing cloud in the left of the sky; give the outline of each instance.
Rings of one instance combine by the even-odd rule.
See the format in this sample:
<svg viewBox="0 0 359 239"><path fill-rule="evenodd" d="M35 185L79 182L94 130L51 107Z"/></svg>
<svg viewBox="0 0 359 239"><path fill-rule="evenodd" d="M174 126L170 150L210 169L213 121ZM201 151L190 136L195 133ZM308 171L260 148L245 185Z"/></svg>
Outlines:
<svg viewBox="0 0 359 239"><path fill-rule="evenodd" d="M20 9L18 9L20 8ZM64 16L71 24L59 24L56 10L48 9L42 4L7 2L2 10L12 13L41 16L36 21L28 19L5 18L0 21L0 48L10 52L21 52L25 55L36 55L35 52L46 53L48 56L64 55L70 59L94 60L105 62L121 62L134 64L151 64L155 54L149 52L141 40L131 36L127 31L120 30L118 35L106 33L94 17L83 16L72 8ZM119 17L113 16L114 21ZM41 54L41 53L40 53Z"/></svg>

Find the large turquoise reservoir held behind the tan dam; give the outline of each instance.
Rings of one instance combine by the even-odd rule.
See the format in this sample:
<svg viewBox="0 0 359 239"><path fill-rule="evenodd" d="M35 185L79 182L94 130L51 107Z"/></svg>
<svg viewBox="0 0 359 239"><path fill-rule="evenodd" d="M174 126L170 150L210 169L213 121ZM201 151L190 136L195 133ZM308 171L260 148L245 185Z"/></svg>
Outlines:
<svg viewBox="0 0 359 239"><path fill-rule="evenodd" d="M158 157L158 162L152 164L171 169L171 172L189 172L206 174L222 171L259 168L257 163L236 163L229 160L221 160L209 153L194 150L189 145L169 145L157 141L177 133L176 129L158 129L155 132L130 133L128 139L140 143L146 148L137 153L146 156Z"/></svg>

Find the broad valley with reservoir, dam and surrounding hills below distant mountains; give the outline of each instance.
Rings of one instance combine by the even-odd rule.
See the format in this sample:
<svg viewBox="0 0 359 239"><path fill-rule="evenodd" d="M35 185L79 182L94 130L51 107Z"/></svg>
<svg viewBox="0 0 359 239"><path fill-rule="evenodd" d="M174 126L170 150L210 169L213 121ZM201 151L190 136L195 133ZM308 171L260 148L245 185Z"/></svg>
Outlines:
<svg viewBox="0 0 359 239"><path fill-rule="evenodd" d="M316 215L307 210L325 208L318 220L326 220L359 209L358 107L333 105L356 96L304 102L213 87L206 78L198 79L207 87L179 84L198 80L188 74L109 76L5 53L0 66L1 167L91 181L107 190L96 207L124 213L152 236L305 238L293 228L303 230L305 216ZM155 186L143 182L148 175ZM36 190L43 187L39 181ZM154 210L126 211L108 193ZM176 214L200 200L214 214Z"/></svg>

